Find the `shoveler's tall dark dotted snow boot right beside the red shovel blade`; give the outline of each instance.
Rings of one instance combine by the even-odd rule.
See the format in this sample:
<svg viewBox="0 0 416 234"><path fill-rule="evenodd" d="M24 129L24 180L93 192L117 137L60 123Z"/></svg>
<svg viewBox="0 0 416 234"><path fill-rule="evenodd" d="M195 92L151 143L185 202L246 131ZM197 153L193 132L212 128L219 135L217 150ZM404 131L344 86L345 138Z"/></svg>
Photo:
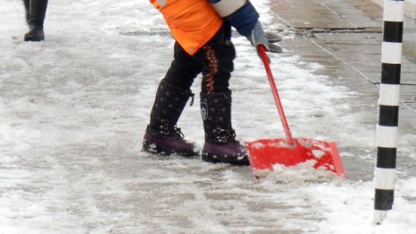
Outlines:
<svg viewBox="0 0 416 234"><path fill-rule="evenodd" d="M246 148L236 141L231 126L231 91L201 93L205 143L202 159L212 163L249 165Z"/></svg>

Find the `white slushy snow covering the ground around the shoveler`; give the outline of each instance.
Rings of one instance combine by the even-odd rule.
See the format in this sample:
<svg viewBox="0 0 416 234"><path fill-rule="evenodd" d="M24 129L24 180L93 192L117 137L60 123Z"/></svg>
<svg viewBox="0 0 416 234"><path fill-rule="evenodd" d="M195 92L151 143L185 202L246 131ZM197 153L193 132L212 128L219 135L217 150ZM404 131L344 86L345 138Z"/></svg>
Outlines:
<svg viewBox="0 0 416 234"><path fill-rule="evenodd" d="M278 28L268 1L253 2L264 28ZM173 46L148 1L51 1L42 43L22 41L23 15L20 1L0 2L1 233L416 233L410 172L399 173L394 210L374 226L372 170L339 179L276 169L256 181L249 168L141 152ZM238 138L282 137L254 48L233 41ZM290 51L270 56L293 134L334 140L344 160L374 163L375 126L360 125L349 105L356 92ZM178 126L202 145L198 102ZM414 134L401 139L414 163Z"/></svg>

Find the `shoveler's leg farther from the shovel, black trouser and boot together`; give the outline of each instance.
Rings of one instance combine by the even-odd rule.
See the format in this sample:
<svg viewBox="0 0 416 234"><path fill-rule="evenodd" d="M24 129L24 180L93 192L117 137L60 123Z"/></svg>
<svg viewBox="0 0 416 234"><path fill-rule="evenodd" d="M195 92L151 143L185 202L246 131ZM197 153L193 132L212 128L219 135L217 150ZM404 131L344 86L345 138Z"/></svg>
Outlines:
<svg viewBox="0 0 416 234"><path fill-rule="evenodd" d="M192 101L194 99L190 87L200 71L193 57L175 43L174 60L160 82L153 103L150 124L144 134L143 151L184 156L198 153L195 152L195 144L183 138L177 123L189 97Z"/></svg>

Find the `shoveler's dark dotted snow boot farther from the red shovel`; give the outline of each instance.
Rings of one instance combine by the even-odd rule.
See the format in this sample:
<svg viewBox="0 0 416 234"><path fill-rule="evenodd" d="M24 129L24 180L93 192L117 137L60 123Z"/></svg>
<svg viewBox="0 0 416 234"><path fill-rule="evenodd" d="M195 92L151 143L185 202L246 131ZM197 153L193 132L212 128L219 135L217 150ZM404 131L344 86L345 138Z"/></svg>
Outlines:
<svg viewBox="0 0 416 234"><path fill-rule="evenodd" d="M195 156L195 143L187 142L178 128L177 122L186 106L187 100L194 94L162 80L153 103L151 121L143 137L143 151L169 155Z"/></svg>

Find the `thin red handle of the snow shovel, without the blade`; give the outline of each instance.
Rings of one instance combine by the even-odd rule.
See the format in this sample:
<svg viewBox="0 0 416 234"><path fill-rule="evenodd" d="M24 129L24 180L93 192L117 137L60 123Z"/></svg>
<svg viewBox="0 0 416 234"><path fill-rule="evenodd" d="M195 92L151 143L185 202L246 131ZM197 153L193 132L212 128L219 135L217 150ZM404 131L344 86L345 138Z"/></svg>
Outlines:
<svg viewBox="0 0 416 234"><path fill-rule="evenodd" d="M265 72L267 73L267 77L269 78L270 87L272 88L274 101L276 102L277 110L279 111L279 116L281 117L282 126L283 126L283 129L284 129L284 134L286 135L286 143L288 143L290 145L293 145L294 142L293 142L293 138L292 138L291 133L290 133L290 128L289 128L289 125L288 125L288 121L286 120L286 116L284 115L284 111L283 111L283 108L282 108L282 102L281 102L281 99L279 98L279 92L277 91L276 84L274 83L272 70L270 69L269 57L265 53L265 48L264 48L263 45L258 45L257 50L258 50L258 53L259 53L260 57L262 58L264 68L265 68Z"/></svg>

